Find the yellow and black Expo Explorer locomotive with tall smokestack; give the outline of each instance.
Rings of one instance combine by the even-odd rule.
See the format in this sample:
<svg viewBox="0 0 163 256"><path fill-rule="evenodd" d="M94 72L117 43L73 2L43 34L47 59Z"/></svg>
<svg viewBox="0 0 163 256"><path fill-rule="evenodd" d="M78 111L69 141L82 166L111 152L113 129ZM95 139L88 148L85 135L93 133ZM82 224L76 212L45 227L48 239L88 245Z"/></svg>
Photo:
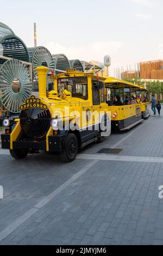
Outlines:
<svg viewBox="0 0 163 256"><path fill-rule="evenodd" d="M45 150L59 152L63 161L71 162L78 148L110 135L104 77L70 69L51 77L54 90L47 93L48 69L41 66L36 70L39 97L32 95L20 106L19 119L3 120L2 148L10 149L12 157L23 159Z"/></svg>

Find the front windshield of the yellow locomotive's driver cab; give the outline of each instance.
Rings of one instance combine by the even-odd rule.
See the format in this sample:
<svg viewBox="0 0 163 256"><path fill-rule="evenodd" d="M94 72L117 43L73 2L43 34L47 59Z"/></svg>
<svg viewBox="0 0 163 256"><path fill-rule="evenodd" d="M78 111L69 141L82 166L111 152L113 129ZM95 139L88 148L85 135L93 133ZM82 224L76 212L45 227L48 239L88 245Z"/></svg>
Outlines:
<svg viewBox="0 0 163 256"><path fill-rule="evenodd" d="M68 90L72 97L87 100L87 77L67 77L58 79L58 92Z"/></svg>

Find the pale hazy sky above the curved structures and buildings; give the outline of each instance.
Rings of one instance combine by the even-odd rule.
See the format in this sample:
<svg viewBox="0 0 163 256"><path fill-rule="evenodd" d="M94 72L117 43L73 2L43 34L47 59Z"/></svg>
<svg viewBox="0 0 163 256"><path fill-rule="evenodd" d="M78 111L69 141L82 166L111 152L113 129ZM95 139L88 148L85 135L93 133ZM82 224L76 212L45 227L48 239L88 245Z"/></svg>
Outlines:
<svg viewBox="0 0 163 256"><path fill-rule="evenodd" d="M0 22L28 47L37 45L68 59L111 56L115 68L163 58L162 0L0 0Z"/></svg>

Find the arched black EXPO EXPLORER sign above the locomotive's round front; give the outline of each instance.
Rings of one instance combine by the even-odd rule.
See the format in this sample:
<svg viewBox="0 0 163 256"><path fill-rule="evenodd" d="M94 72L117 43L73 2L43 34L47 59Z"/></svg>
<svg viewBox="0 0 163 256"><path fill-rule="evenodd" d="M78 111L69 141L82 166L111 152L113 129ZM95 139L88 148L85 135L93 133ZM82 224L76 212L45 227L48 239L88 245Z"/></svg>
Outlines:
<svg viewBox="0 0 163 256"><path fill-rule="evenodd" d="M47 110L47 106L41 103L41 100L39 98L36 98L34 95L30 96L30 98L26 100L26 103L20 105L19 108L20 111L28 108L40 108L43 110Z"/></svg>

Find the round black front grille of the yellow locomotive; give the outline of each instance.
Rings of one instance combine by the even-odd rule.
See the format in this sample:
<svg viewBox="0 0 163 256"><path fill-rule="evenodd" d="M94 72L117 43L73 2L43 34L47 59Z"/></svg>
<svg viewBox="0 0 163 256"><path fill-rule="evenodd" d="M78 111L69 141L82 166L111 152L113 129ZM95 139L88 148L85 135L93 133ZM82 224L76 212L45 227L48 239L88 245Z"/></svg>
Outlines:
<svg viewBox="0 0 163 256"><path fill-rule="evenodd" d="M30 138L44 137L51 125L51 113L38 108L22 110L20 123L23 132Z"/></svg>

